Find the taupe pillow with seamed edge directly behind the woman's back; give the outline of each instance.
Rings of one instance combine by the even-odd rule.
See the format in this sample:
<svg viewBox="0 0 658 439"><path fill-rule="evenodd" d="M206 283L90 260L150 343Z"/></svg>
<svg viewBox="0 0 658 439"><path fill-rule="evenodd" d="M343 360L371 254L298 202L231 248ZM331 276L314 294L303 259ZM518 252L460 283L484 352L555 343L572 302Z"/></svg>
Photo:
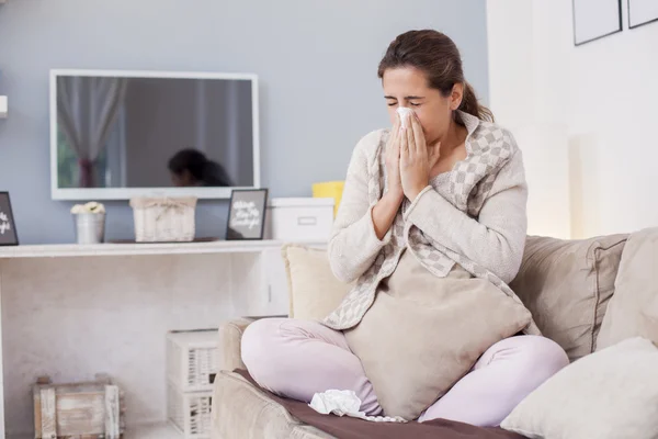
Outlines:
<svg viewBox="0 0 658 439"><path fill-rule="evenodd" d="M543 335L559 344L571 361L594 350L626 238L526 240L521 270L510 286Z"/></svg>

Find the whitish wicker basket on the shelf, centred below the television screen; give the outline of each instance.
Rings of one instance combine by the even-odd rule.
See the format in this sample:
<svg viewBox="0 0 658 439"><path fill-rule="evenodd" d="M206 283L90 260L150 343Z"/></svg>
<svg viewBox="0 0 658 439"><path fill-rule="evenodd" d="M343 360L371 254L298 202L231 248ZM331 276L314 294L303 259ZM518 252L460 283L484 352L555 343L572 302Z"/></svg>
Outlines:
<svg viewBox="0 0 658 439"><path fill-rule="evenodd" d="M195 198L131 200L137 243L172 243L194 239Z"/></svg>

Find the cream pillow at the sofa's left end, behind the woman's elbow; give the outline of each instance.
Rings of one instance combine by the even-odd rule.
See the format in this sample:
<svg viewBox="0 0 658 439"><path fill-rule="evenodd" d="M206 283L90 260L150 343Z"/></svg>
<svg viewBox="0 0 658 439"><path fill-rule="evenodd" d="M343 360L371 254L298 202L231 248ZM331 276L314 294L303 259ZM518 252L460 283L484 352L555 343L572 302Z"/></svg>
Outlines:
<svg viewBox="0 0 658 439"><path fill-rule="evenodd" d="M281 256L288 280L291 317L321 320L350 291L351 285L331 272L326 250L286 245Z"/></svg>

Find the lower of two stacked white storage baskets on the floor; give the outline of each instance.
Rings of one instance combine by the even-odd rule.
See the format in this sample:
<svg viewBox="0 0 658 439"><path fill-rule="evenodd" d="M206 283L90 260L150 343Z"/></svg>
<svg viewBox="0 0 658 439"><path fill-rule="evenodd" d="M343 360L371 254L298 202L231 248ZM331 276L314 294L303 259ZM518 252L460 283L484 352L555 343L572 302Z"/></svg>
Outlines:
<svg viewBox="0 0 658 439"><path fill-rule="evenodd" d="M183 393L167 385L167 418L185 439L211 439L213 392Z"/></svg>

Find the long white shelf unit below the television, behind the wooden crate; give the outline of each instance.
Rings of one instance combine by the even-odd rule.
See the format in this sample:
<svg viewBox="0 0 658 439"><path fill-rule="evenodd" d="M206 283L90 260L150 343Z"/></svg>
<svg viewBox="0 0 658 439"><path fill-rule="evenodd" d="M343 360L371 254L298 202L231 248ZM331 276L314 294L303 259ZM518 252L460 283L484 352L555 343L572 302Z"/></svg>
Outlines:
<svg viewBox="0 0 658 439"><path fill-rule="evenodd" d="M125 394L127 439L181 438L163 424L167 333L287 314L283 244L0 247L0 439L31 432L36 376L99 372Z"/></svg>

